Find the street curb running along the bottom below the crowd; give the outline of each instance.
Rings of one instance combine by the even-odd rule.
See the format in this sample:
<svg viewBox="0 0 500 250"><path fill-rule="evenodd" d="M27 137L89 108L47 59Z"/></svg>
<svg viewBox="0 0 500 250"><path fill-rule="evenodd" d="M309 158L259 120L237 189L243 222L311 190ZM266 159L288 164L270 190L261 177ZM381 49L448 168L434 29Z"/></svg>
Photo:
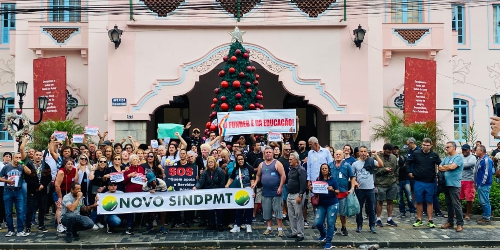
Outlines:
<svg viewBox="0 0 500 250"><path fill-rule="evenodd" d="M240 248L240 247L314 247L322 246L317 240L203 240L203 241L153 241L153 242L119 242L119 243L0 243L0 249L89 249L89 248L130 248L130 247L169 247L169 248ZM359 247L361 244L378 244L381 248L410 247L453 247L453 246L500 246L500 240L428 240L428 241L351 241L332 242L334 246Z"/></svg>

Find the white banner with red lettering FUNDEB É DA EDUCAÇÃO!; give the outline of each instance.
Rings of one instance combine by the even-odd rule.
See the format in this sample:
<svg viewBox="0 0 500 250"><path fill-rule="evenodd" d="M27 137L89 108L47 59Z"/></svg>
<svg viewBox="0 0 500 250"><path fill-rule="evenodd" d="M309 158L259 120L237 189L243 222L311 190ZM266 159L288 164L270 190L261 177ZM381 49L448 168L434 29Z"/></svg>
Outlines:
<svg viewBox="0 0 500 250"><path fill-rule="evenodd" d="M295 133L295 109L246 110L217 113L220 135Z"/></svg>

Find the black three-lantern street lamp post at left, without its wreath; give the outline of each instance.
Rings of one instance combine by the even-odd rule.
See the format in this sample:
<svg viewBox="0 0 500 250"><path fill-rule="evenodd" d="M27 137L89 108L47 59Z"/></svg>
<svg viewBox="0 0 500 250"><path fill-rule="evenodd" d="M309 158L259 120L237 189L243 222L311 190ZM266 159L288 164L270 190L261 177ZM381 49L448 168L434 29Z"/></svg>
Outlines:
<svg viewBox="0 0 500 250"><path fill-rule="evenodd" d="M17 116L15 116L15 118L10 117L10 119L13 119L13 121L11 123L13 126L15 126L17 131L22 130L24 128L24 125L25 125L21 114L22 114L22 104L24 103L22 101L22 97L26 94L27 85L28 85L28 83L24 82L24 81L18 81L15 83L15 87L17 89L17 95L19 95L19 101L18 101L19 108L17 110L15 110L15 112L17 113ZM36 122L28 120L30 125L36 125L36 124L40 123L41 120L43 119L43 111L45 111L45 109L47 109L48 98L46 96L44 96L44 95L38 96L38 98L36 98L36 100L37 100L38 110L40 111L40 118ZM5 110L6 103L7 103L7 99L0 95L0 113L3 113L4 111L6 111ZM15 122L15 120L17 120L17 122ZM3 118L1 118L1 122L4 122ZM6 127L4 127L3 130L6 130ZM10 131L9 131L9 134L12 137L15 137L15 141L19 142L19 144L18 144L18 147L19 147L22 143L20 136L16 137L15 134L11 133ZM27 130L24 131L24 134L27 134ZM19 149L17 149L17 150L19 150Z"/></svg>

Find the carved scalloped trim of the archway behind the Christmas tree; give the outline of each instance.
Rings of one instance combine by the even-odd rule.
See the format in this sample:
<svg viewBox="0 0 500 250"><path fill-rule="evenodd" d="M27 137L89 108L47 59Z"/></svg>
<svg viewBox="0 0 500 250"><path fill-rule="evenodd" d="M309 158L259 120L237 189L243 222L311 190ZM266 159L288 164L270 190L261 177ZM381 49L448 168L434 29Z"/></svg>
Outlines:
<svg viewBox="0 0 500 250"><path fill-rule="evenodd" d="M174 96L191 91L199 76L209 72L222 57L227 54L230 44L212 49L198 60L180 65L180 73L176 79L159 79L152 89L141 96L136 103L131 103L132 113L151 114L161 105L168 104ZM304 96L309 104L317 107L326 120L332 120L335 114L345 113L345 105L340 105L323 87L320 79L302 79L297 74L297 64L286 62L272 56L265 48L251 43L244 43L250 49L250 59L262 65L265 70L278 75L284 89L294 95ZM329 116L332 117L329 117Z"/></svg>

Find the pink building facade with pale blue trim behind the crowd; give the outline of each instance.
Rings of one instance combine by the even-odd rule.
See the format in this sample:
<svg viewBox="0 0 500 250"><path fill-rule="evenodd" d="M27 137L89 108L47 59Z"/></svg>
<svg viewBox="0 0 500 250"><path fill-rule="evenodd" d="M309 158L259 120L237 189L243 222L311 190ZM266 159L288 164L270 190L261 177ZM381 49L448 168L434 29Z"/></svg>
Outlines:
<svg viewBox="0 0 500 250"><path fill-rule="evenodd" d="M203 128L227 32L237 25L260 75L261 103L296 108L301 139L381 147L369 142L369 128L384 110L401 112L409 56L437 62L436 116L449 138L460 141L474 123L478 139L496 147L488 116L489 96L500 91L500 1L248 0L239 21L234 0L59 2L0 1L0 93L13 98L8 107L16 106L19 80L30 83L25 106L32 107L33 59L65 55L68 118L117 140L152 139L157 123ZM43 11L21 11L33 7ZM114 25L123 30L117 49L107 35ZM360 48L358 25L367 30ZM113 98L126 105L113 106ZM4 133L0 143L15 149Z"/></svg>

